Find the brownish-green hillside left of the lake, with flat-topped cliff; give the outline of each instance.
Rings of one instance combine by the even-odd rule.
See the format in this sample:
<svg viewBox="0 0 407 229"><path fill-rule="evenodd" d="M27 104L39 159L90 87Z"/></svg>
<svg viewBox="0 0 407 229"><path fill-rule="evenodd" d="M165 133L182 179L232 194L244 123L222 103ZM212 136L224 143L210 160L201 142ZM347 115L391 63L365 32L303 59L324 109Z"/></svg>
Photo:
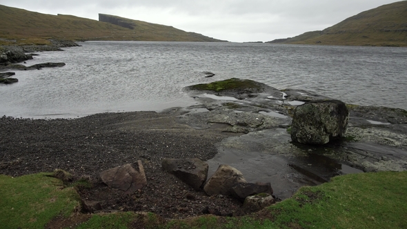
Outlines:
<svg viewBox="0 0 407 229"><path fill-rule="evenodd" d="M43 44L48 43L47 39L77 41L221 41L195 32L185 32L172 26L162 26L120 17L115 18L129 21L132 28L72 15L41 14L0 5L0 44Z"/></svg>

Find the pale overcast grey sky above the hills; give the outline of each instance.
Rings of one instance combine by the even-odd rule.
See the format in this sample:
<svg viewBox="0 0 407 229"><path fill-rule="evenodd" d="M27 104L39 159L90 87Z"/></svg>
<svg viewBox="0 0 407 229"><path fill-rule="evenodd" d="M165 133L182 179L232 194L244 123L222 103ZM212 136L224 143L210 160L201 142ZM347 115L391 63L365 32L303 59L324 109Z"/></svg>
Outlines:
<svg viewBox="0 0 407 229"><path fill-rule="evenodd" d="M44 14L98 14L173 26L228 41L271 41L323 30L392 0L0 0ZM0 21L1 23L1 21Z"/></svg>

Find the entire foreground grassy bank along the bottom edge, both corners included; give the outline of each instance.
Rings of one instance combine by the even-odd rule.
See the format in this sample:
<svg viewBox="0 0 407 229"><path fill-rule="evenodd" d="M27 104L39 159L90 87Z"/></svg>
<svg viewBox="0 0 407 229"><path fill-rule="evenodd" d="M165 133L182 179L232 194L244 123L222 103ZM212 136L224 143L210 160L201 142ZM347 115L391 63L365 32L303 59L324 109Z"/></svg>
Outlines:
<svg viewBox="0 0 407 229"><path fill-rule="evenodd" d="M78 209L75 190L49 175L0 175L1 226L43 228L53 217L68 217ZM77 228L407 228L406 215L407 171L377 172L303 187L292 198L246 217L166 221L152 213L118 212L92 215Z"/></svg>

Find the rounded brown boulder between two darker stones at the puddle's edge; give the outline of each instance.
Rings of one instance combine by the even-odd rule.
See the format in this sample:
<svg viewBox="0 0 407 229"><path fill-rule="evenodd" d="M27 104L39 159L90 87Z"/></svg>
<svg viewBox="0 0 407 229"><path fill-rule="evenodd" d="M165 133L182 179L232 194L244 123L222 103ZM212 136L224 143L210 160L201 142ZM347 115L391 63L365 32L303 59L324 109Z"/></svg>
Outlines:
<svg viewBox="0 0 407 229"><path fill-rule="evenodd" d="M239 170L228 165L220 165L208 179L203 190L207 195L231 195L232 187L247 183Z"/></svg>

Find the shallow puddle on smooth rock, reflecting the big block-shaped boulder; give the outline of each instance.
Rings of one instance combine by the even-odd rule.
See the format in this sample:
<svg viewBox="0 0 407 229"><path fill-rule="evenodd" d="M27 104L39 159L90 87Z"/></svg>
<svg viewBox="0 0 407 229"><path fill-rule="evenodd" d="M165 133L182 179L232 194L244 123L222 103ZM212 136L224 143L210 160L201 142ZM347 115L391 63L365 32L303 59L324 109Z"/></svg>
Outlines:
<svg viewBox="0 0 407 229"><path fill-rule="evenodd" d="M274 195L280 199L291 197L301 186L315 186L337 175L363 172L308 148L297 148L290 143L285 129L230 137L217 144L217 149L217 155L207 161L208 178L221 164L227 164L239 170L248 182L270 182Z"/></svg>

